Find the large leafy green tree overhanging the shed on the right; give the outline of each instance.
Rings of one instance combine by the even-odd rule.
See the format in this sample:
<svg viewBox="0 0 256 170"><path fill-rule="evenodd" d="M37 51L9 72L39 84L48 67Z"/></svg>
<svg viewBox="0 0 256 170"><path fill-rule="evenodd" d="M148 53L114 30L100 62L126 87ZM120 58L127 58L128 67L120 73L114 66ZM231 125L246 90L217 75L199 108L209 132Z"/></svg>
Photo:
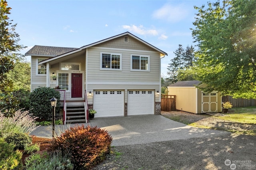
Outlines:
<svg viewBox="0 0 256 170"><path fill-rule="evenodd" d="M223 95L256 99L256 1L208 2L198 10L196 77Z"/></svg>

